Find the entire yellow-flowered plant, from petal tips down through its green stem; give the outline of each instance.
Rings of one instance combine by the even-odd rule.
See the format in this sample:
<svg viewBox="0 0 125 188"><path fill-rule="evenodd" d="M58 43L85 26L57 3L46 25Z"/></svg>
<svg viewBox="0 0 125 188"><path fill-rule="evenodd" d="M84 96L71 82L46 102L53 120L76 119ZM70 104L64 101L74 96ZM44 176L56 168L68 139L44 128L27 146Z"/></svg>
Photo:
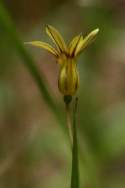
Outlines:
<svg viewBox="0 0 125 188"><path fill-rule="evenodd" d="M73 110L73 125L70 114L70 103L72 97L76 95L79 87L79 73L77 70L77 57L83 50L93 42L97 36L99 29L95 29L90 32L86 37L83 37L82 33L75 36L67 45L61 36L61 34L50 25L46 26L46 33L52 39L55 47L42 41L31 41L25 44L32 45L37 48L43 48L51 53L56 62L60 66L58 76L58 88L64 96L64 102L67 112L67 125L69 129L69 135L72 145L72 177L71 188L79 187L79 170L78 170L78 146L77 146L77 131L76 131L76 111L77 111L77 99L75 100Z"/></svg>

